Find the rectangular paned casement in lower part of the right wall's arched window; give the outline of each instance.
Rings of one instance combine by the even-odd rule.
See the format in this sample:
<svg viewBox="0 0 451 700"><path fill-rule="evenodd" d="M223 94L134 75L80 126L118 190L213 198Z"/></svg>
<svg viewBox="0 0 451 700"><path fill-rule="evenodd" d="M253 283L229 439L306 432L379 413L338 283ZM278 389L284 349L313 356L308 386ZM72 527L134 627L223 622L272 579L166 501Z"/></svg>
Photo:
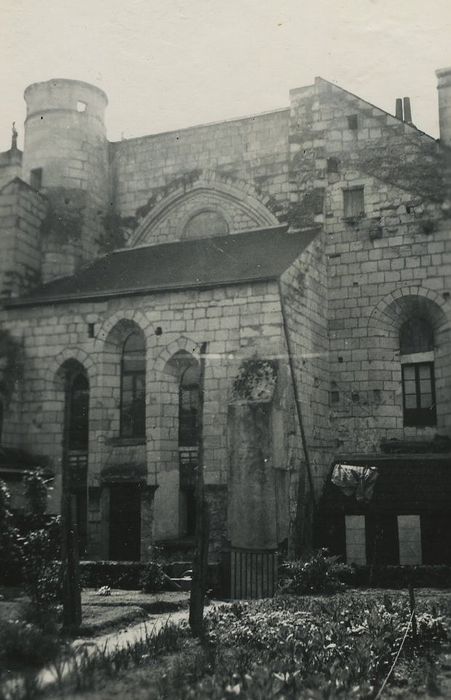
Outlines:
<svg viewBox="0 0 451 700"><path fill-rule="evenodd" d="M402 366L402 394L405 426L436 424L433 362Z"/></svg>

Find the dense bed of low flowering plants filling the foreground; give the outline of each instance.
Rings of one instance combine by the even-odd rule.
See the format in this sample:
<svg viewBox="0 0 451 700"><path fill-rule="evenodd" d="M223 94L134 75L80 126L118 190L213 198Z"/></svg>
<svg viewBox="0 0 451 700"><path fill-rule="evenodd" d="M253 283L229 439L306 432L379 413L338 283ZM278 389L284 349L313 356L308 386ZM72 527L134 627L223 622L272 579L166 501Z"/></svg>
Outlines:
<svg viewBox="0 0 451 700"><path fill-rule="evenodd" d="M124 611L130 598L128 593L124 596L118 595L117 601L99 598L102 602L93 608L103 608L105 614L116 608ZM439 613L444 609L449 614L450 597L430 598L418 596L418 640L407 636L384 697L438 692L437 654L444 639ZM191 638L186 624L167 624L156 634L149 628L143 639L110 653L92 646L76 656L71 652L66 660L70 673L54 696L370 699L392 664L408 618L408 596L399 592L354 591L236 603L209 616L202 643ZM62 661L55 664L60 677L62 667ZM24 697L35 695L13 700Z"/></svg>

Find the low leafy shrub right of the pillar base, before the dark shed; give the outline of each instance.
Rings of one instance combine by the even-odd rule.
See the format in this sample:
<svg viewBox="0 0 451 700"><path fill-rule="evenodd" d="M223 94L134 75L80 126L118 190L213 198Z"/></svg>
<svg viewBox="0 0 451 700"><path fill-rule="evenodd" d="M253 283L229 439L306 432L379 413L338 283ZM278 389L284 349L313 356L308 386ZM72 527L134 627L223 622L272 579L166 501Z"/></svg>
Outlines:
<svg viewBox="0 0 451 700"><path fill-rule="evenodd" d="M337 593L346 587L352 574L350 566L321 549L310 559L297 559L282 566L280 591L295 595Z"/></svg>

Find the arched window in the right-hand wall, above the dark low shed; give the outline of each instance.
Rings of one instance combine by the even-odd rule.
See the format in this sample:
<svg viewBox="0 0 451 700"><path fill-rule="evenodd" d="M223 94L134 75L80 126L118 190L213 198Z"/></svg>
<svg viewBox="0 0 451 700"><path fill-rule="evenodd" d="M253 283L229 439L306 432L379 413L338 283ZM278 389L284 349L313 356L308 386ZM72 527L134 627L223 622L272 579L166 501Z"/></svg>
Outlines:
<svg viewBox="0 0 451 700"><path fill-rule="evenodd" d="M436 425L434 331L431 324L421 317L403 323L399 347L404 425Z"/></svg>

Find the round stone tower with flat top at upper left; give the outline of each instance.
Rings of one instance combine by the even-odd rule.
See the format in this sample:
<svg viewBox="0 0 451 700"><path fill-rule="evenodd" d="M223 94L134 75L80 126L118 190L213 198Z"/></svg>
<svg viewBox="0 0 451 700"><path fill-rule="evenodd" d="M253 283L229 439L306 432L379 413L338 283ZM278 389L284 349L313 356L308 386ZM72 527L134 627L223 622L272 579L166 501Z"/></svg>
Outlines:
<svg viewBox="0 0 451 700"><path fill-rule="evenodd" d="M44 280L95 257L109 205L106 94L79 80L33 83L27 105L23 178L49 200Z"/></svg>

